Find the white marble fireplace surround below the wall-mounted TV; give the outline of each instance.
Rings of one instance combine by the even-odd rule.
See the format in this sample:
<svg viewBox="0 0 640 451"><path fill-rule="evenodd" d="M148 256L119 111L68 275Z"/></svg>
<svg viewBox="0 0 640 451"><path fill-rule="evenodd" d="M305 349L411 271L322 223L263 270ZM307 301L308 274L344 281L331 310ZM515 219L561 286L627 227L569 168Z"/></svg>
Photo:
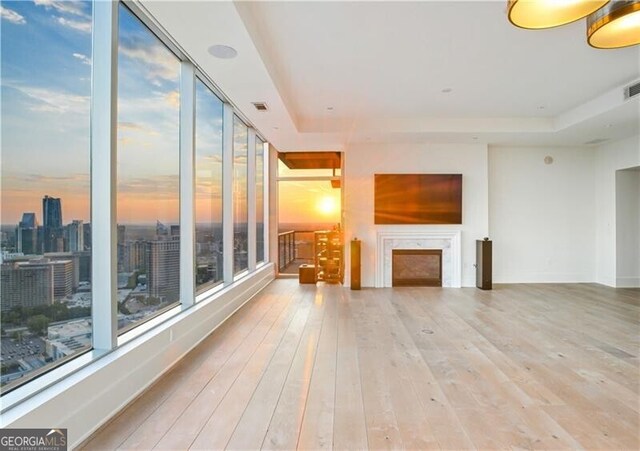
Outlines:
<svg viewBox="0 0 640 451"><path fill-rule="evenodd" d="M460 230L384 230L376 236L376 288L391 287L393 249L442 249L442 286L462 286Z"/></svg>

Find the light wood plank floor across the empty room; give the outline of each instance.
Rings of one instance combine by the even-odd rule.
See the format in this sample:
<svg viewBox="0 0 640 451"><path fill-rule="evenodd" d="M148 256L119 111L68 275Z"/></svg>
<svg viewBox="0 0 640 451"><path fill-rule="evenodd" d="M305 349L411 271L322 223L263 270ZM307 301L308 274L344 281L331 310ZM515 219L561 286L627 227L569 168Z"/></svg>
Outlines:
<svg viewBox="0 0 640 451"><path fill-rule="evenodd" d="M640 449L640 290L280 279L85 443Z"/></svg>

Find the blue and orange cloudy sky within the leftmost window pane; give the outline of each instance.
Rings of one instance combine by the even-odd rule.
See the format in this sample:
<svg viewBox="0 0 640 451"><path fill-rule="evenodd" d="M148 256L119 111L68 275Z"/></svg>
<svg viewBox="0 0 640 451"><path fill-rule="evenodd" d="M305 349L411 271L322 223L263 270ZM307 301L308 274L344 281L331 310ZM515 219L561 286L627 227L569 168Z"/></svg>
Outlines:
<svg viewBox="0 0 640 451"><path fill-rule="evenodd" d="M89 218L91 4L2 2L2 223Z"/></svg>

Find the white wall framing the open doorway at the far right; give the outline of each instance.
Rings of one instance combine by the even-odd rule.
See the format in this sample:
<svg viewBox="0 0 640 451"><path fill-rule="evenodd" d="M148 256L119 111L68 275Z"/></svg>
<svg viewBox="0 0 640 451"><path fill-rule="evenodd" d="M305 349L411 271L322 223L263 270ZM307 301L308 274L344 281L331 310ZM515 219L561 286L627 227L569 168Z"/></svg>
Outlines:
<svg viewBox="0 0 640 451"><path fill-rule="evenodd" d="M596 150L596 282L617 286L616 171L640 166L640 135Z"/></svg>

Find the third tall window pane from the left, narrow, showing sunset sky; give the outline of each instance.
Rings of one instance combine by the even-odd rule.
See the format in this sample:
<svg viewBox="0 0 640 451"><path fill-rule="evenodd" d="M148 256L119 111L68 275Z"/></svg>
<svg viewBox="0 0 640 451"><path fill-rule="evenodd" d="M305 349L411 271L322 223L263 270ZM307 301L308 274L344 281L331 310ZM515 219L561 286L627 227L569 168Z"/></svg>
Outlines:
<svg viewBox="0 0 640 451"><path fill-rule="evenodd" d="M198 291L223 280L222 101L196 81L196 266Z"/></svg>

